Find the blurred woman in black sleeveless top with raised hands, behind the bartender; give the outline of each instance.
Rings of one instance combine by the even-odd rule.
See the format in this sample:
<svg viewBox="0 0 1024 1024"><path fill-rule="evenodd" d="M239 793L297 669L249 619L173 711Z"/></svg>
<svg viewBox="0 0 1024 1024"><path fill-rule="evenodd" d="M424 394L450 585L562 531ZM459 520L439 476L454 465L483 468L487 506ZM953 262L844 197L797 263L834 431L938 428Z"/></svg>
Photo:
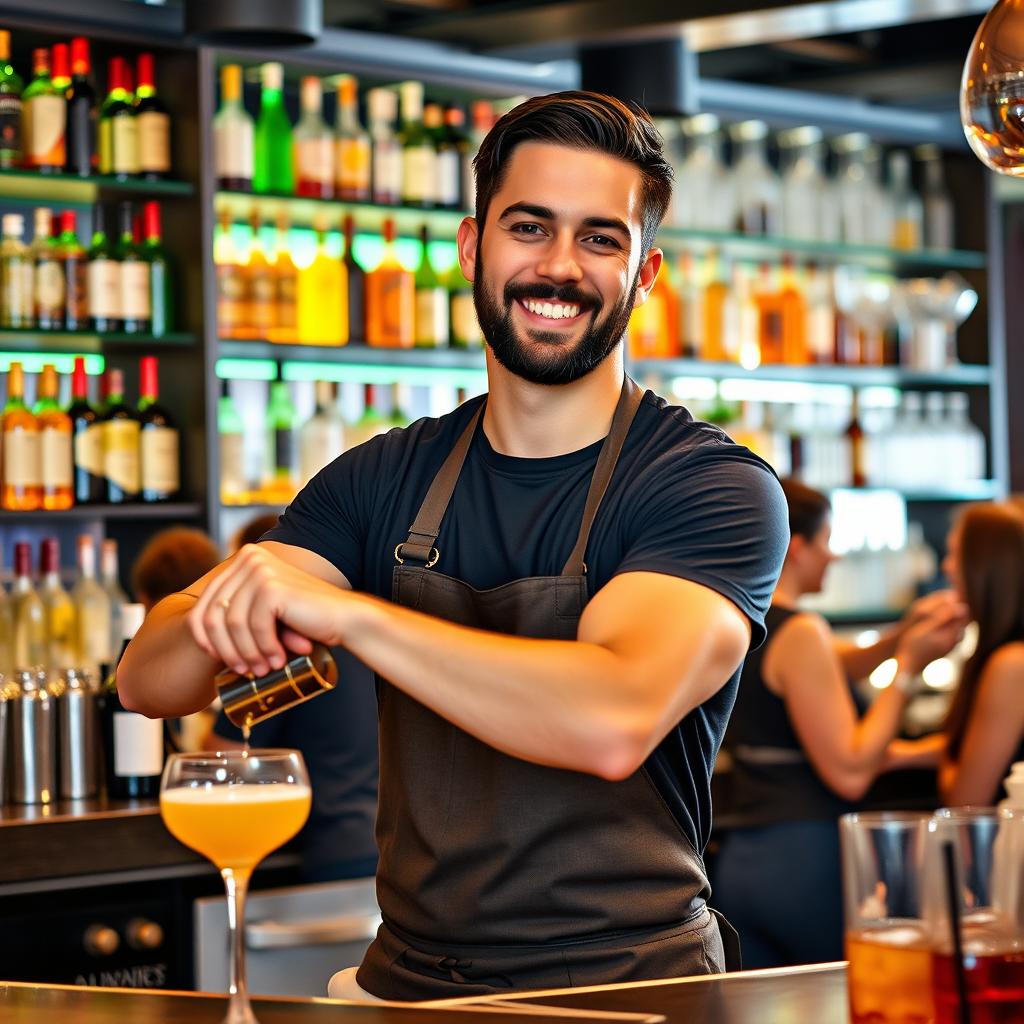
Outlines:
<svg viewBox="0 0 1024 1024"><path fill-rule="evenodd" d="M768 638L743 665L725 745L739 827L715 871L718 907L739 932L744 968L843 958L837 818L882 771L914 679L959 639L966 614L949 592L915 602L877 643L837 640L801 611L836 556L828 499L783 480L790 549L765 618ZM858 719L849 681L895 657L893 684Z"/></svg>

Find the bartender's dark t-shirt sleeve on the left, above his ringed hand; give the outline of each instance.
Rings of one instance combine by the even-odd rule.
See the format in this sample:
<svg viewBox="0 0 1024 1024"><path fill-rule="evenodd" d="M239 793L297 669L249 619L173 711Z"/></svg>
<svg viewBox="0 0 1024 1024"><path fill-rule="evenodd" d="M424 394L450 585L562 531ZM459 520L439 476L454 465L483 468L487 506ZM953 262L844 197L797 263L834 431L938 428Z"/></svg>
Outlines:
<svg viewBox="0 0 1024 1024"><path fill-rule="evenodd" d="M312 551L343 572L353 590L365 589L367 528L382 442L374 437L322 469L262 539Z"/></svg>

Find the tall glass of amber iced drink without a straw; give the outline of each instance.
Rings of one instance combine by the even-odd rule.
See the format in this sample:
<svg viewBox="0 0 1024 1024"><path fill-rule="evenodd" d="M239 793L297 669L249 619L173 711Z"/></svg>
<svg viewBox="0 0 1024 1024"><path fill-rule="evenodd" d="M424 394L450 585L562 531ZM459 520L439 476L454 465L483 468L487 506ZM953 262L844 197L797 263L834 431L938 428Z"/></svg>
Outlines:
<svg viewBox="0 0 1024 1024"><path fill-rule="evenodd" d="M840 819L851 1024L933 1024L922 904L928 815Z"/></svg>

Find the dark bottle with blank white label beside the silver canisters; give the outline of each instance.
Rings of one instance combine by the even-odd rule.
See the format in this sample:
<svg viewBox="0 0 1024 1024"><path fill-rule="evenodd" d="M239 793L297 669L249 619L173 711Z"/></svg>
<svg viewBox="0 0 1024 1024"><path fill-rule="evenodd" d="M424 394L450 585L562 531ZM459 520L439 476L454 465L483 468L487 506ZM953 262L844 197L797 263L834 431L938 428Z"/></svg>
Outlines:
<svg viewBox="0 0 1024 1024"><path fill-rule="evenodd" d="M145 618L141 604L126 604L122 613L121 653ZM110 658L106 663L110 664ZM111 671L99 695L102 721L106 795L113 800L146 800L160 793L164 771L164 723L125 710L118 695L116 668Z"/></svg>

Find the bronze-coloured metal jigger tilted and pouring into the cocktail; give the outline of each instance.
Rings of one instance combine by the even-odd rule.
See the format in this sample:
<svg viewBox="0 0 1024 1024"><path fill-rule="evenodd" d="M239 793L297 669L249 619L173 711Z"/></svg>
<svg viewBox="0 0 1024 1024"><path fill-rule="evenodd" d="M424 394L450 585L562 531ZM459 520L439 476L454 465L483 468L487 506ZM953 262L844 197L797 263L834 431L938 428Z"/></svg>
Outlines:
<svg viewBox="0 0 1024 1024"><path fill-rule="evenodd" d="M338 685L338 663L327 647L315 644L309 654L293 657L265 676L225 670L214 680L230 722L248 729L295 705Z"/></svg>

